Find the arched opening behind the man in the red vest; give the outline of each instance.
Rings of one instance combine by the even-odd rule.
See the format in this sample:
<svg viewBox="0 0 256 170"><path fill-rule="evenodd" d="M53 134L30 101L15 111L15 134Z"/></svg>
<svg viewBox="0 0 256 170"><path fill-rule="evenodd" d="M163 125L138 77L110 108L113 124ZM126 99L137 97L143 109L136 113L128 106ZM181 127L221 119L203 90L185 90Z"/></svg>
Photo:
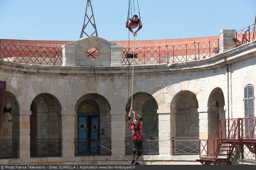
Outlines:
<svg viewBox="0 0 256 170"><path fill-rule="evenodd" d="M131 98L128 100L126 110L129 112ZM153 96L148 93L136 93L133 95L133 110L143 117L142 124L142 150L143 155L159 154L159 126L158 126L158 105ZM131 115L133 119L133 115ZM126 118L128 122L128 118ZM126 154L132 153L132 134L130 125L126 126Z"/></svg>

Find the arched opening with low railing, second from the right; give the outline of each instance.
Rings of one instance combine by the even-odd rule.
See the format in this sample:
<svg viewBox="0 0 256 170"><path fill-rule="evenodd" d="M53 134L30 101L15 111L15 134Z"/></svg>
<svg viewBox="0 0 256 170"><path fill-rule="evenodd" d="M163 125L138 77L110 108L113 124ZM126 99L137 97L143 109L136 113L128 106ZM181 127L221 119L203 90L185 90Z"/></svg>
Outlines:
<svg viewBox="0 0 256 170"><path fill-rule="evenodd" d="M171 102L175 115L175 154L197 154L199 140L198 100L191 91L180 91Z"/></svg>

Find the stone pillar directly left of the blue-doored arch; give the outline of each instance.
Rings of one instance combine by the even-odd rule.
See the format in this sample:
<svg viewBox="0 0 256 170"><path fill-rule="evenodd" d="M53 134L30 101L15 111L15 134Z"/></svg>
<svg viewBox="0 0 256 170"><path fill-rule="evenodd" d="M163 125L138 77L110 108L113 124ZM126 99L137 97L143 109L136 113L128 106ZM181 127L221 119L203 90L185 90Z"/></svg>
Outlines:
<svg viewBox="0 0 256 170"><path fill-rule="evenodd" d="M61 161L75 160L75 111L61 111Z"/></svg>

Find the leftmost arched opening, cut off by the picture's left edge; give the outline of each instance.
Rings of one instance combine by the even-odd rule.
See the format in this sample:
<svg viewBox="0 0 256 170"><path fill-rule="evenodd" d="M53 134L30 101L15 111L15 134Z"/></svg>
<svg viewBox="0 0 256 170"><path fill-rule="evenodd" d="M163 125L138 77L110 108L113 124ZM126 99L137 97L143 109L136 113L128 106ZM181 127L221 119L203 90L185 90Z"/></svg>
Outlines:
<svg viewBox="0 0 256 170"><path fill-rule="evenodd" d="M19 104L9 91L5 92L3 101L3 117L0 132L0 158L17 158L17 142L19 142ZM16 119L15 119L16 118Z"/></svg>

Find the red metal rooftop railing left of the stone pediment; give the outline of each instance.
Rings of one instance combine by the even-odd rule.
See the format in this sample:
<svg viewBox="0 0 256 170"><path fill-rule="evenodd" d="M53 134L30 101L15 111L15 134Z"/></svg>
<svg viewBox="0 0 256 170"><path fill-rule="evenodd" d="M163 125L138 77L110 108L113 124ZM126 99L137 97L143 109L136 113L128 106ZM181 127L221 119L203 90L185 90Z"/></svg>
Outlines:
<svg viewBox="0 0 256 170"><path fill-rule="evenodd" d="M15 45L0 42L2 60L39 65L61 65L62 48Z"/></svg>

